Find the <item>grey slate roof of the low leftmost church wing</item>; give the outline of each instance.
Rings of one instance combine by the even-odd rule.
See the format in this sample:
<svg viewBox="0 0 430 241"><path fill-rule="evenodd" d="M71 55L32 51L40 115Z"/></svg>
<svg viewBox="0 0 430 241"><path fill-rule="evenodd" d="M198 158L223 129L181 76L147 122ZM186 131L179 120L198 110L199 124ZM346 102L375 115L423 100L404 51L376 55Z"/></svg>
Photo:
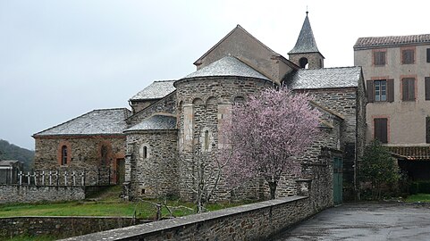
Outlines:
<svg viewBox="0 0 430 241"><path fill-rule="evenodd" d="M130 115L131 111L126 108L94 110L53 128L40 131L33 137L122 135L122 131L127 128L125 119Z"/></svg>

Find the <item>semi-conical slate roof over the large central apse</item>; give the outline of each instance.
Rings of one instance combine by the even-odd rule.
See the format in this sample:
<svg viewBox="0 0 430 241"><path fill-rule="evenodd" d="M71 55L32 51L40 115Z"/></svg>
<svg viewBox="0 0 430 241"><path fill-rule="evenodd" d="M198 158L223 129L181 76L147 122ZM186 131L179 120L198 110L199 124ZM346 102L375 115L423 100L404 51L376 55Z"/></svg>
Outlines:
<svg viewBox="0 0 430 241"><path fill-rule="evenodd" d="M212 62L206 67L190 73L182 79L190 79L197 77L213 77L213 76L240 76L257 79L268 79L260 72L254 70L248 64L241 62L235 57L225 56L222 59Z"/></svg>

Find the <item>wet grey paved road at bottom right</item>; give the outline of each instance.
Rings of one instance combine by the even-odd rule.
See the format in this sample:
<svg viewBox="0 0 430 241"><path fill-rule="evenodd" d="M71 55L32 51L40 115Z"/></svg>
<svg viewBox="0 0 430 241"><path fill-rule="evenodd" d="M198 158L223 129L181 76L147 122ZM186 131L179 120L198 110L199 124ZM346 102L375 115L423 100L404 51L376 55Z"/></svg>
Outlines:
<svg viewBox="0 0 430 241"><path fill-rule="evenodd" d="M275 240L430 240L430 205L343 204Z"/></svg>

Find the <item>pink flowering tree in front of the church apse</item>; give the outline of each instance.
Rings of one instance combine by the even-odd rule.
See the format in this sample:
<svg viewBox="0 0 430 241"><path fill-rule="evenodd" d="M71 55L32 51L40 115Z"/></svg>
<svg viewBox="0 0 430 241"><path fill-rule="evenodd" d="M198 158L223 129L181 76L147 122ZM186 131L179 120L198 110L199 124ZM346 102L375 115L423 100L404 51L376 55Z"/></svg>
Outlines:
<svg viewBox="0 0 430 241"><path fill-rule="evenodd" d="M320 112L309 105L310 96L293 94L286 87L267 89L232 109L227 128L230 146L225 174L232 186L248 179L264 178L274 199L284 174L299 174L293 157L303 154L319 133Z"/></svg>

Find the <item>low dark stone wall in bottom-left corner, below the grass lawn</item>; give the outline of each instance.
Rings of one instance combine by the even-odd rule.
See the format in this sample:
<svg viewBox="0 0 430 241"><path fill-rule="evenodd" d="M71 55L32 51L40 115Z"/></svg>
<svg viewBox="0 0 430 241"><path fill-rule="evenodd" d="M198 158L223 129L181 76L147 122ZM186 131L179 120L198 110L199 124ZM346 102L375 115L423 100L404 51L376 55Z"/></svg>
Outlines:
<svg viewBox="0 0 430 241"><path fill-rule="evenodd" d="M123 217L14 217L0 219L0 240L11 237L40 236L64 238L134 225ZM139 221L139 220L138 220ZM139 222L142 223L142 222Z"/></svg>

